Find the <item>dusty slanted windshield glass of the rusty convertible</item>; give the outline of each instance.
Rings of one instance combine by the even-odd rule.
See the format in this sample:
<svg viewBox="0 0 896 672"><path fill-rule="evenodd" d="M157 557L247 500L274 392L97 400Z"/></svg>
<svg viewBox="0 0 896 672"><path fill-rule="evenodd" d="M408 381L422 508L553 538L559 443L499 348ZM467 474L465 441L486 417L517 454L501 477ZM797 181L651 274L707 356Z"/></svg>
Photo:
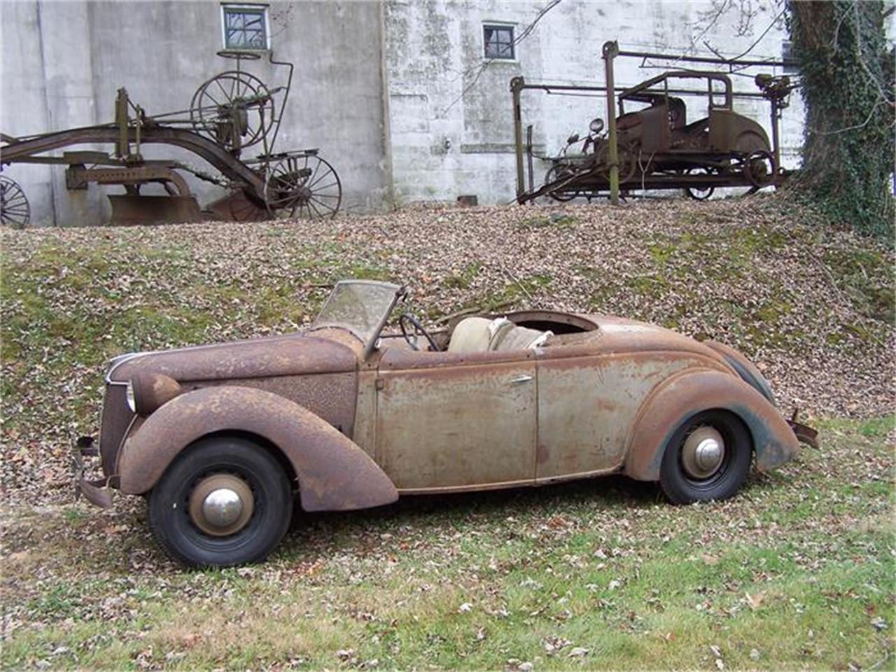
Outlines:
<svg viewBox="0 0 896 672"><path fill-rule="evenodd" d="M369 346L389 319L402 289L391 282L342 280L336 283L323 304L312 329L341 327L348 329Z"/></svg>

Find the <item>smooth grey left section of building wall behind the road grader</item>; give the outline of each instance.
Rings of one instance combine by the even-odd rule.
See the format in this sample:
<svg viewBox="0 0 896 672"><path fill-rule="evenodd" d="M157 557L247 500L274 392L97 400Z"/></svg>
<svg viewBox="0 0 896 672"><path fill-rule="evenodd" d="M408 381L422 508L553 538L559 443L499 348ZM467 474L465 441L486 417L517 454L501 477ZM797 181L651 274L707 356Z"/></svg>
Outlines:
<svg viewBox="0 0 896 672"><path fill-rule="evenodd" d="M268 13L275 58L296 65L275 151L319 148L340 175L345 210L382 207L388 172L380 5L275 2ZM150 116L187 109L202 82L236 65L216 55L223 44L220 3L214 0L7 0L0 4L0 24L5 134L111 122L121 86ZM260 60L241 67L271 87L286 84L282 66ZM260 148L248 148L244 157ZM144 145L142 154L209 168L194 154L166 145ZM92 223L98 214L108 219L105 194L123 193L120 186L99 185L68 191L65 169L58 166L16 164L4 173L22 185L35 224ZM187 177L201 203L226 193ZM163 192L151 185L143 193Z"/></svg>

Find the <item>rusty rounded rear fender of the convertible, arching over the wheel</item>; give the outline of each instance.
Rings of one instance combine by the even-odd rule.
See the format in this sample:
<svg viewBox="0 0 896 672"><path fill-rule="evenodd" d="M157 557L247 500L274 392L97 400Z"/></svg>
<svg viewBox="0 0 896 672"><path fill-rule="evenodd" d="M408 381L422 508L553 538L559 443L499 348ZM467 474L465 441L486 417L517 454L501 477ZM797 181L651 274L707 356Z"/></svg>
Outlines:
<svg viewBox="0 0 896 672"><path fill-rule="evenodd" d="M663 451L676 428L710 409L728 410L744 422L757 470L774 469L797 456L797 437L762 394L735 375L691 368L660 383L643 401L625 452L625 474L658 480Z"/></svg>

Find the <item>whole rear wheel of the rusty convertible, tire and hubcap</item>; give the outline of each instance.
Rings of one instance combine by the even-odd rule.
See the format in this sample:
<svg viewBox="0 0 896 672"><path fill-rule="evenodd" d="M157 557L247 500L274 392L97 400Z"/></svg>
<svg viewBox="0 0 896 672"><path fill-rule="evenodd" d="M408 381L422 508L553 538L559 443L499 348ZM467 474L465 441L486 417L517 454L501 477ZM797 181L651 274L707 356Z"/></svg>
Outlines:
<svg viewBox="0 0 896 672"><path fill-rule="evenodd" d="M750 471L753 441L744 423L726 410L685 420L663 452L659 485L674 504L727 499Z"/></svg>

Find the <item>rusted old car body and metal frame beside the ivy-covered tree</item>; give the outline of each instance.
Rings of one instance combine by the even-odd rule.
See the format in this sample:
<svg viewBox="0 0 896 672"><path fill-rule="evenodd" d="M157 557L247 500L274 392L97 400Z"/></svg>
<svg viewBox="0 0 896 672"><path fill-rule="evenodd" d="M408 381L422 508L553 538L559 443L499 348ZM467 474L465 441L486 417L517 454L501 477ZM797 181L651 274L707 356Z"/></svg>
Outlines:
<svg viewBox="0 0 896 672"><path fill-rule="evenodd" d="M633 56L648 60L695 61L725 65L728 73L680 68L668 70L630 87L616 89L614 59ZM684 190L696 200L709 198L719 187L747 187L752 193L779 185L786 177L780 163L778 123L796 88L787 75L758 74L759 91L736 92L732 73L762 65L789 65L770 60L725 60L702 56L674 56L619 51L616 42L604 45L605 86L529 83L522 77L511 82L516 138L517 202L533 202L541 196L555 201L588 200L619 193L646 190ZM696 84L696 85L694 85ZM532 126L523 142L521 93L542 90L548 94L595 96L607 99L607 129L603 119L590 122L584 137L573 134L557 156L547 161L540 185L535 184ZM706 100L708 114L687 118L685 97ZM771 103L771 142L753 119L738 114L736 98L765 99ZM627 106L627 108L626 108ZM528 160L528 188L524 170Z"/></svg>

